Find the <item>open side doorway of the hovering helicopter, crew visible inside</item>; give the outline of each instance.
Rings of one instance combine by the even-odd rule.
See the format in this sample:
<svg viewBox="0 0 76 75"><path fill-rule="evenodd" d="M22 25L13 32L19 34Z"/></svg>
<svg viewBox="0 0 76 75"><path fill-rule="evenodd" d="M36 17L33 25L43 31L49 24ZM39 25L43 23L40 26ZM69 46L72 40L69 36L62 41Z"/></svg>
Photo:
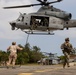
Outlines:
<svg viewBox="0 0 76 75"><path fill-rule="evenodd" d="M31 16L30 25L33 26L34 28L48 27L49 18L43 16Z"/></svg>

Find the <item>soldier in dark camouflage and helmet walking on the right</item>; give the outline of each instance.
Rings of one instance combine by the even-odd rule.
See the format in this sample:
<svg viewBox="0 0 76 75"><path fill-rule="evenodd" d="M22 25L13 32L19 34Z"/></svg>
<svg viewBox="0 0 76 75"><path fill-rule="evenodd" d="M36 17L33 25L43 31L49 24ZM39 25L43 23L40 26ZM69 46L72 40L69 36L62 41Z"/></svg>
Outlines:
<svg viewBox="0 0 76 75"><path fill-rule="evenodd" d="M72 44L69 43L69 38L65 39L65 42L61 45L61 49L64 54L64 63L63 63L63 68L65 68L65 65L67 64L69 66L69 59L70 59L70 52L72 50Z"/></svg>

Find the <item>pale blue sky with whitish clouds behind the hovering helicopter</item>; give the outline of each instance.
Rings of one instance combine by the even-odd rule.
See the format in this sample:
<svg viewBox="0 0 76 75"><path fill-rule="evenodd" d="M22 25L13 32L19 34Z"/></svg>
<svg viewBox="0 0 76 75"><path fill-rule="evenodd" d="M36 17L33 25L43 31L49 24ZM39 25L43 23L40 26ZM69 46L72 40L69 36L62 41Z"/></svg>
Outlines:
<svg viewBox="0 0 76 75"><path fill-rule="evenodd" d="M54 1L54 0L48 0ZM40 6L18 9L3 9L5 6L27 5L38 3L36 0L0 0L0 50L6 51L11 42L24 46L27 34L21 30L11 30L10 21L16 20L21 13L36 12ZM63 0L60 3L52 4L54 7L72 14L72 19L76 19L76 0ZM70 43L76 47L76 28L69 30L54 31L55 35L29 35L28 43L31 47L38 46L41 52L57 53L62 55L61 44L66 37L70 38Z"/></svg>

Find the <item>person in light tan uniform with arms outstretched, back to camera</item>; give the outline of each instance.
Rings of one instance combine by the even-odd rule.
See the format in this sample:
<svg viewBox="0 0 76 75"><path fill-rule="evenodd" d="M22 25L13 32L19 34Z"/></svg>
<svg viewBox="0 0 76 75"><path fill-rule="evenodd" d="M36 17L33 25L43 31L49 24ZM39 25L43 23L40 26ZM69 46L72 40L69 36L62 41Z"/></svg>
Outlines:
<svg viewBox="0 0 76 75"><path fill-rule="evenodd" d="M15 66L15 62L17 59L17 50L22 50L19 46L16 45L16 42L12 42L12 45L7 48L7 50L10 52L9 55L9 61L7 63L7 66L9 66L12 62L13 67Z"/></svg>

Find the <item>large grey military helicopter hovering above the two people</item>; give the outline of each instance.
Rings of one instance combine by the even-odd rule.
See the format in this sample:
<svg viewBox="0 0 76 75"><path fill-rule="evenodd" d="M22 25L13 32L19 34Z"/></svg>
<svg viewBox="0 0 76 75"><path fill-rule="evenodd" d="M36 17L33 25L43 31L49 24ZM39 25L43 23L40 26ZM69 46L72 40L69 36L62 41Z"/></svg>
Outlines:
<svg viewBox="0 0 76 75"><path fill-rule="evenodd" d="M20 13L19 17L10 22L11 29L21 29L28 34L34 34L35 31L48 32L55 30L64 30L76 27L76 20L71 20L72 14L53 7L50 4L61 2L57 0L48 2L47 0L37 0L39 4L30 4L22 6L3 7L4 9L24 8L41 5L41 8L35 13Z"/></svg>

